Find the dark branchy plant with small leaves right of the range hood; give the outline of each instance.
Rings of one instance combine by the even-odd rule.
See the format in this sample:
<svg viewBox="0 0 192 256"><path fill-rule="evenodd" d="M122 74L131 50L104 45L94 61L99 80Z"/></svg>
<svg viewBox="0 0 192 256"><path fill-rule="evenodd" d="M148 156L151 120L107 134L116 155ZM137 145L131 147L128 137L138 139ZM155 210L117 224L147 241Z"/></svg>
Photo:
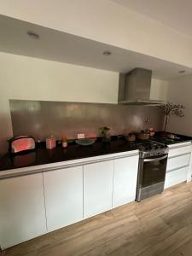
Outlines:
<svg viewBox="0 0 192 256"><path fill-rule="evenodd" d="M173 104L173 103L167 102L166 104L160 105L160 108L163 109L163 112L165 114L165 123L164 123L163 131L166 131L167 124L171 115L176 115L178 117L184 116L183 109L185 107L182 104Z"/></svg>

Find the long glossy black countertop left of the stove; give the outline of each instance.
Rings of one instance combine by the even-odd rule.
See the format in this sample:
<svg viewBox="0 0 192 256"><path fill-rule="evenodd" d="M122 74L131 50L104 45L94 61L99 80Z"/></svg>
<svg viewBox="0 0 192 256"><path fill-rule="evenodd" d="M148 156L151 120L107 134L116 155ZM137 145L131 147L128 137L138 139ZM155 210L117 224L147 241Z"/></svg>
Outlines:
<svg viewBox="0 0 192 256"><path fill-rule="evenodd" d="M137 149L134 143L126 143L124 139L113 137L110 143L102 143L97 139L91 146L79 146L76 143L68 144L67 148L61 145L51 150L46 149L45 143L38 144L37 149L25 154L5 154L0 158L0 171L26 167L39 166L60 161L77 160L103 154L114 154Z"/></svg>

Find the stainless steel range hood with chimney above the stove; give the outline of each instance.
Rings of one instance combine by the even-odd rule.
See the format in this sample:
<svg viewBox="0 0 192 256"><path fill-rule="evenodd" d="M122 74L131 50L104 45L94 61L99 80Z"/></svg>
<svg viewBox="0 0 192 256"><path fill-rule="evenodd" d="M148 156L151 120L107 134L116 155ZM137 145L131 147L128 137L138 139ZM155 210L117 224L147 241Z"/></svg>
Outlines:
<svg viewBox="0 0 192 256"><path fill-rule="evenodd" d="M160 105L164 102L150 100L152 71L134 68L129 73L119 73L119 104Z"/></svg>

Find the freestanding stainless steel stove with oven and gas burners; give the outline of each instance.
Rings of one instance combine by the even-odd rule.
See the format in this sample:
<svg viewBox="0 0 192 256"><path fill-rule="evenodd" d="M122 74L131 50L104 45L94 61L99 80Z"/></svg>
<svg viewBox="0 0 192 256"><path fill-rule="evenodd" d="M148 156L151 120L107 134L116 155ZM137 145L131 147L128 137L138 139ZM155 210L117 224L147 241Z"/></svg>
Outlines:
<svg viewBox="0 0 192 256"><path fill-rule="evenodd" d="M164 190L168 147L151 140L136 145L140 154L136 200L142 201Z"/></svg>

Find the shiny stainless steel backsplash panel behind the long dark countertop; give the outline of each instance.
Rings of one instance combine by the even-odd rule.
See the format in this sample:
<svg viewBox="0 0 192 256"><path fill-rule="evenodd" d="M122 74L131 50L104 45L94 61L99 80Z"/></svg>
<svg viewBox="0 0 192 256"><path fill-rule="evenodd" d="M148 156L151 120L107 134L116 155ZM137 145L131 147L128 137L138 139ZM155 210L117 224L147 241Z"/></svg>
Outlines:
<svg viewBox="0 0 192 256"><path fill-rule="evenodd" d="M162 130L159 107L124 106L82 102L9 100L14 136L31 135L36 140L54 136L76 138L78 133L99 135L108 126L111 134L125 134L154 127ZM148 119L148 122L146 122Z"/></svg>

